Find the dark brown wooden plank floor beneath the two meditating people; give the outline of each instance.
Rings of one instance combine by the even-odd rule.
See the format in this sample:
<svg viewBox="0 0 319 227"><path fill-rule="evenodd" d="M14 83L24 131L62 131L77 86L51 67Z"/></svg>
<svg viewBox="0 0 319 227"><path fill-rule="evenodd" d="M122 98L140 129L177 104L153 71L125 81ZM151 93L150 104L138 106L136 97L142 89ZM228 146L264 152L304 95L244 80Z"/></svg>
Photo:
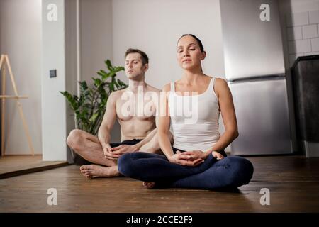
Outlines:
<svg viewBox="0 0 319 227"><path fill-rule="evenodd" d="M319 158L247 157L254 165L250 184L237 192L152 189L126 177L85 179L79 167L0 180L0 212L318 212ZM57 189L57 206L47 189ZM270 190L270 205L259 202Z"/></svg>

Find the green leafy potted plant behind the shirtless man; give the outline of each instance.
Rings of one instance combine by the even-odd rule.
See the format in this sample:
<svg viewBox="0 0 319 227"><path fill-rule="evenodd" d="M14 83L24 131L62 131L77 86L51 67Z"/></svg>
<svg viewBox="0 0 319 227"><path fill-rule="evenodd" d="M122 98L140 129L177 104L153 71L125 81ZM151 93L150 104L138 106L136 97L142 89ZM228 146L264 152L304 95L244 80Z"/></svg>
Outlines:
<svg viewBox="0 0 319 227"><path fill-rule="evenodd" d="M111 92L128 87L120 79L116 79L116 73L124 70L124 67L114 67L110 60L105 61L108 72L100 70L97 72L99 77L92 77L94 83L88 86L86 81L79 82L80 94L69 94L69 92L60 92L69 102L69 106L74 111L75 128L81 129L97 135L101 125L103 114L106 110L106 102ZM71 149L72 150L72 149ZM82 165L84 159L73 152L74 163Z"/></svg>

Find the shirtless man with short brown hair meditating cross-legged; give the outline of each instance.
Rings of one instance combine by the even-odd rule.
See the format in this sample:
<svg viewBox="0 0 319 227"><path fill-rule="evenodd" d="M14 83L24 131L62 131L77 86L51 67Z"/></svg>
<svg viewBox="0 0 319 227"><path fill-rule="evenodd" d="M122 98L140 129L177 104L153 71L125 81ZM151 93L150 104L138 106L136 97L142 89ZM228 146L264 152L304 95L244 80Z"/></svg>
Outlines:
<svg viewBox="0 0 319 227"><path fill-rule="evenodd" d="M80 167L86 178L121 175L118 172L117 160L125 153L138 151L161 153L155 117L158 110L156 97L159 98L160 91L146 84L147 69L148 57L145 52L128 49L125 52L128 87L112 92L108 97L98 137L78 129L69 133L67 145L85 160L94 163ZM121 126L122 142L112 144L110 133L116 118Z"/></svg>

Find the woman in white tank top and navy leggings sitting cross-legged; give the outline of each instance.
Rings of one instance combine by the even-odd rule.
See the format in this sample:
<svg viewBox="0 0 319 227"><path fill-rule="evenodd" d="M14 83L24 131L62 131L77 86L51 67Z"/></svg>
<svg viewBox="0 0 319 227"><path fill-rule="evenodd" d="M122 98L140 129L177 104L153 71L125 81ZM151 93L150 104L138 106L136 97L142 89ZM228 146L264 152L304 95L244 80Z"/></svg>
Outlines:
<svg viewBox="0 0 319 227"><path fill-rule="evenodd" d="M223 79L203 74L201 61L206 57L201 40L182 35L177 43L177 61L184 74L167 84L161 99L166 114L159 116L159 145L165 155L128 153L118 160L118 170L126 177L144 181L147 189L187 187L220 189L240 187L252 178L253 166L243 157L227 157L224 149L238 136L232 95ZM190 94L190 95L189 95ZM180 104L191 102L191 123L180 112ZM225 133L218 132L219 112ZM169 141L172 122L174 145Z"/></svg>

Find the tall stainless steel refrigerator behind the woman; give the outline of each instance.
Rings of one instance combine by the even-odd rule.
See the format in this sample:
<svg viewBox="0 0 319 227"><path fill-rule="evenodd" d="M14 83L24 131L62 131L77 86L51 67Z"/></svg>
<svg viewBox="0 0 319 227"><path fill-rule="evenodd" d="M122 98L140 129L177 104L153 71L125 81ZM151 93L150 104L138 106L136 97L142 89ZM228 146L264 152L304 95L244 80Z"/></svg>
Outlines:
<svg viewBox="0 0 319 227"><path fill-rule="evenodd" d="M260 6L268 4L269 21ZM220 1L225 77L233 94L239 137L233 155L293 152L276 0Z"/></svg>

